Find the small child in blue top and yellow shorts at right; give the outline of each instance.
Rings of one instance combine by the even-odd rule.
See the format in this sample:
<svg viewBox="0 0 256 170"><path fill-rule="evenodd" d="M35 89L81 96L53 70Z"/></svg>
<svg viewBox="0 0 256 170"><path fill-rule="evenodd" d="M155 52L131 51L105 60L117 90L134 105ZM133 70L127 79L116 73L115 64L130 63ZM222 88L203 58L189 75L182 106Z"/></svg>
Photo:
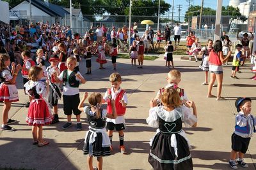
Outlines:
<svg viewBox="0 0 256 170"><path fill-rule="evenodd" d="M232 73L230 76L231 78L239 79L236 76L236 72L239 71L240 61L243 58L242 52L241 52L242 48L243 48L243 46L241 44L236 45L236 52L234 54L233 62L232 62Z"/></svg>

